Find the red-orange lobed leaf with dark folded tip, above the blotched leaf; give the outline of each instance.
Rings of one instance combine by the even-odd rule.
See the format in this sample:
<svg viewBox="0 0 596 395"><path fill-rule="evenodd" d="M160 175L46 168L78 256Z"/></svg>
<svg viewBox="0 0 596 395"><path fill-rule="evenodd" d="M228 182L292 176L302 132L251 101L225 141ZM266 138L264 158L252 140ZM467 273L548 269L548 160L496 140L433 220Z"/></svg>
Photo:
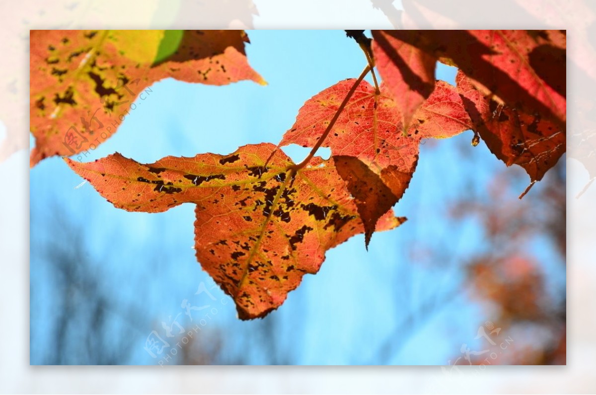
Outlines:
<svg viewBox="0 0 596 395"><path fill-rule="evenodd" d="M280 145L313 147L354 81L340 81L306 101ZM421 139L448 138L471 129L460 95L454 86L443 81L436 82L433 93L418 108L406 136L402 125L398 105L387 86L381 84L380 93L376 94L370 83L362 81L322 143L322 147L331 148L336 165L346 162L345 157L358 160L347 160L337 170L348 183L356 204L364 205L359 213L367 242L374 232L375 220L384 213L383 208L392 207L408 188ZM368 207L371 202L375 202L377 209Z"/></svg>

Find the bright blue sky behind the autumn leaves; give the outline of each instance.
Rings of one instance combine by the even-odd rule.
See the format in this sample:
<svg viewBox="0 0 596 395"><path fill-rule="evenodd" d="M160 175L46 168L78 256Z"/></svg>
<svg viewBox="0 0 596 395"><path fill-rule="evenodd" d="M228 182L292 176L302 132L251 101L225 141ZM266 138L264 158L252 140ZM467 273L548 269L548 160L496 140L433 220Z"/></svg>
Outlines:
<svg viewBox="0 0 596 395"><path fill-rule="evenodd" d="M166 155L228 154L244 144L277 144L307 99L339 80L357 77L366 64L358 45L341 30L256 30L249 36L249 62L267 80L267 86L253 82L205 86L162 80L151 87L144 100L136 100L136 109L118 132L91 151L85 161L117 151L149 163ZM439 79L454 83L454 77L455 69L441 66L437 70ZM482 189L504 167L484 144L471 147L472 135L468 131L421 146L417 172L395 207L396 214L407 216L408 222L393 231L374 234L368 252L362 235L328 251L320 272L305 276L302 285L270 315L275 321L274 336L263 329L269 318L238 321L231 299L219 288L211 290L216 302L195 296L198 284L208 278L192 248L192 204L157 214L117 210L91 185L75 188L82 179L60 158L42 161L30 173L32 315L35 312L31 363L43 363L44 350L55 335L52 316L62 308L55 300L63 285L52 275L48 258L57 242L80 254L87 262L85 270L99 279L114 306L132 306L125 309L131 314L110 315L108 326L108 339L130 339L131 353L123 363L157 363L143 348L145 338L154 329L162 331L160 322L168 316L181 312L184 316L180 306L184 298L196 305L212 303L218 309L204 332L221 335L224 354L242 353L247 363L267 363L272 344L298 364L447 363L461 343L473 343L479 323L491 321L490 310L470 303L462 294L445 301L445 307L432 319L405 326L405 333L396 334L395 328L429 298L440 302L443 293L465 287L461 263L483 248L483 232L477 222L448 222L445 217L449 202L465 194L467 188ZM286 152L294 160L306 154L291 147ZM522 172L510 170L517 178ZM520 191L527 184L522 179ZM57 241L59 223L74 229L78 237ZM451 246L444 262L412 260L412 247L433 240ZM75 243L80 248L75 249ZM550 245L536 243L528 247L532 253L552 255ZM564 272L552 269L551 275L555 284L564 287ZM88 303L84 295L72 297L80 298L83 305ZM181 324L188 326L188 322ZM381 359L383 345L396 335L404 337L395 340L398 350Z"/></svg>

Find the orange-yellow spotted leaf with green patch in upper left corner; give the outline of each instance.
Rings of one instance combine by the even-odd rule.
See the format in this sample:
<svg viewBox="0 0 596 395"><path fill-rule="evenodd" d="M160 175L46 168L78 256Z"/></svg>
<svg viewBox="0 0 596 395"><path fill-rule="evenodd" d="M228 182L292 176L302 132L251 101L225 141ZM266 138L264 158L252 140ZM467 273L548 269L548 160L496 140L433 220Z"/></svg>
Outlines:
<svg viewBox="0 0 596 395"><path fill-rule="evenodd" d="M246 41L242 30L32 30L31 166L95 149L134 110L135 98L166 77L265 83L246 60Z"/></svg>

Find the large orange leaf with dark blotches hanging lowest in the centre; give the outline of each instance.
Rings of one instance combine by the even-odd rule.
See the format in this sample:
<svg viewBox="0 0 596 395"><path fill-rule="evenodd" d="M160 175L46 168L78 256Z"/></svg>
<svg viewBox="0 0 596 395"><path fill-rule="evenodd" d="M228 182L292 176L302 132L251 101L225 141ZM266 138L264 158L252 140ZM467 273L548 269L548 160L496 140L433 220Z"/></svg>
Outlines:
<svg viewBox="0 0 596 395"><path fill-rule="evenodd" d="M241 319L277 309L303 275L318 272L325 251L364 232L331 160L315 157L296 170L272 144L151 164L120 154L66 161L120 209L153 213L195 203L197 260L234 298ZM389 211L376 230L404 221Z"/></svg>

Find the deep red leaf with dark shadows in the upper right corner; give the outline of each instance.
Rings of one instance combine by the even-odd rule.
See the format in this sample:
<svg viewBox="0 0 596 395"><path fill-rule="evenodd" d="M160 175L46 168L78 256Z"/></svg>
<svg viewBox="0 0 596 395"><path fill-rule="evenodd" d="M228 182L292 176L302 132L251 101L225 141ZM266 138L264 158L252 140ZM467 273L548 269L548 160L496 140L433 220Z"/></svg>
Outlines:
<svg viewBox="0 0 596 395"><path fill-rule="evenodd" d="M564 30L386 31L395 39L446 57L486 96L501 104L566 123Z"/></svg>

